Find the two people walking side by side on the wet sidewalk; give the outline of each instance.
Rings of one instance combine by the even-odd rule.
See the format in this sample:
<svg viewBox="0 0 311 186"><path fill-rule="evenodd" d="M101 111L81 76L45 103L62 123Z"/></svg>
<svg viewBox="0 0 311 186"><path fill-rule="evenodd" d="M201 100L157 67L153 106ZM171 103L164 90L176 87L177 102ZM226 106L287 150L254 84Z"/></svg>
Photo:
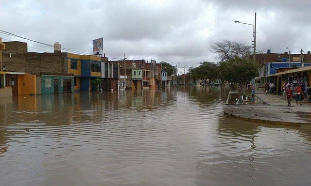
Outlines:
<svg viewBox="0 0 311 186"><path fill-rule="evenodd" d="M292 98L294 97L295 92L295 98L296 98L296 105L298 105L298 101L300 102L300 105L302 105L301 100L302 98L305 98L305 90L304 87L301 87L300 84L297 84L296 87L294 87L293 83L289 83L285 81L283 84L283 96L287 99L288 106L291 105Z"/></svg>

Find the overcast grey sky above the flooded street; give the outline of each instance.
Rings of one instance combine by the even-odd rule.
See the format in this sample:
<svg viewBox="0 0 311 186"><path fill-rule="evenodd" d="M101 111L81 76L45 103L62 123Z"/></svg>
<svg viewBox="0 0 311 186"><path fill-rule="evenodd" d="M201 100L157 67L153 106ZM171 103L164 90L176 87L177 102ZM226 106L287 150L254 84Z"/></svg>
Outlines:
<svg viewBox="0 0 311 186"><path fill-rule="evenodd" d="M212 43L251 45L252 26L234 20L253 24L255 12L258 50L311 50L308 0L3 0L0 8L0 30L87 53L92 39L104 37L108 57L217 62ZM29 43L29 51L51 49Z"/></svg>

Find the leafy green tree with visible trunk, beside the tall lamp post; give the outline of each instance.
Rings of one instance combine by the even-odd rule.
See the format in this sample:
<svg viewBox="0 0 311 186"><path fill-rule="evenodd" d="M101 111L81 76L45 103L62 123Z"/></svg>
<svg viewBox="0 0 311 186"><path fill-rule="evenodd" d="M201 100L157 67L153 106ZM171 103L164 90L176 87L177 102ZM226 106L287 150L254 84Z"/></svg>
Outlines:
<svg viewBox="0 0 311 186"><path fill-rule="evenodd" d="M247 83L259 75L259 63L250 59L233 58L219 63L221 77L233 83L239 83L242 95Z"/></svg>

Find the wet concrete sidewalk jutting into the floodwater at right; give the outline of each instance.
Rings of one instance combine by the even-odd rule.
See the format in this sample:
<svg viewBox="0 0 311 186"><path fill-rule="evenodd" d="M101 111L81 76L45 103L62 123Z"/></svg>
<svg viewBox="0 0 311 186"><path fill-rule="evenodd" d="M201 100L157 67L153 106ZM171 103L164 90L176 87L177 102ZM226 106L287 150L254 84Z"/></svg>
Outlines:
<svg viewBox="0 0 311 186"><path fill-rule="evenodd" d="M307 125L311 126L311 104L303 103L296 106L287 106L287 100L282 96L257 93L256 96L266 104L255 105L226 105L225 114L238 119L283 125Z"/></svg>

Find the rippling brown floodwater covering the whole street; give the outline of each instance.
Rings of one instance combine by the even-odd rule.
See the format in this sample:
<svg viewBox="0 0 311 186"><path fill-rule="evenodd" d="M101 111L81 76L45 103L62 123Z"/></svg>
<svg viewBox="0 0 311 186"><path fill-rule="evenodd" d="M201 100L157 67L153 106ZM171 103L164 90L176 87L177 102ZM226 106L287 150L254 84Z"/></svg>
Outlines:
<svg viewBox="0 0 311 186"><path fill-rule="evenodd" d="M224 116L228 90L0 99L1 186L310 186L311 127Z"/></svg>

